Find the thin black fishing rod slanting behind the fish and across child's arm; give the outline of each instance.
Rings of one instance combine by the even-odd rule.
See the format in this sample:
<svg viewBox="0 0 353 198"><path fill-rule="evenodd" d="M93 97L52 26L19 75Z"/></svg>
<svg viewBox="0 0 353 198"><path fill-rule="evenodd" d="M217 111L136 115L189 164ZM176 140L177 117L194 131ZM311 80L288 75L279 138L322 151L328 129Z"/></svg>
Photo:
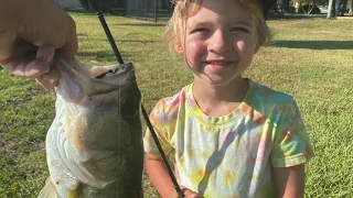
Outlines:
<svg viewBox="0 0 353 198"><path fill-rule="evenodd" d="M104 18L101 11L97 10L97 8L98 8L98 2L97 2L97 0L94 1L94 3L95 3L96 14L98 15L98 19L99 19L99 21L100 21L100 24L101 24L101 26L103 26L103 29L104 29L104 31L105 31L105 33L106 33L106 35L107 35L107 38L108 38L108 41L109 41L109 43L110 43L110 46L111 46L113 51L114 51L114 54L115 54L115 56L117 57L118 63L119 63L119 64L124 64L121 54L120 54L120 52L119 52L119 50L118 50L118 46L116 45L116 43L115 43L115 41L114 41L114 37L113 37L111 33L110 33L110 30L109 30L109 28L108 28L108 24L107 24L107 22L106 22L106 20L105 20L105 18ZM179 186L179 184L178 184L178 182L176 182L176 178L175 178L175 176L174 176L174 174L173 174L173 172L172 172L172 169L171 169L171 167L170 167L170 165L169 165L169 163L168 163L167 156L165 156L165 154L164 154L164 152L163 152L163 150L162 150L162 146L161 146L161 144L160 144L158 138L157 138L156 131L154 131L154 129L153 129L153 125L152 125L152 123L151 123L151 121L150 121L150 119L149 119L149 117L148 117L148 113L146 112L145 107L143 107L142 103L141 103L141 110L142 110L142 116L143 116L143 118L145 118L145 120L146 120L146 122L147 122L147 127L148 127L148 129L150 130L150 132L151 132L151 134L152 134L153 141L154 141L154 143L156 143L156 145L157 145L157 147L158 147L159 153L160 153L161 156L162 156L163 164L164 164L164 166L165 166L165 168L167 168L167 170L168 170L168 174L169 174L170 178L172 179L174 189L176 190L176 193L178 193L178 195L179 195L180 197L184 197L184 196L183 196L183 193L182 193L182 190L181 190L181 188L180 188L180 186Z"/></svg>

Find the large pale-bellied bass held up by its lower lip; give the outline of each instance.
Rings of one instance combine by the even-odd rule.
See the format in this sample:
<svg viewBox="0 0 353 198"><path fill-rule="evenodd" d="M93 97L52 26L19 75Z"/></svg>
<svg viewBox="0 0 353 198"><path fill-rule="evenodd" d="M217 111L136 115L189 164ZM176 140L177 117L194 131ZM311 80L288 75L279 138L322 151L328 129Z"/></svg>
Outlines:
<svg viewBox="0 0 353 198"><path fill-rule="evenodd" d="M133 65L56 63L56 116L45 145L50 177L39 197L142 197L141 96Z"/></svg>

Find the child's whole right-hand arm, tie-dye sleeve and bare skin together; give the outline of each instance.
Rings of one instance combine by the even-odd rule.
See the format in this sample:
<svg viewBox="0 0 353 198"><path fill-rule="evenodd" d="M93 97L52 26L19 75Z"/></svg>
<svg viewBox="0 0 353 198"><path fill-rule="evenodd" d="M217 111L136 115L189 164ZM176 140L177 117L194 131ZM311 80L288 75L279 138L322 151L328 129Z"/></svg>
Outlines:
<svg viewBox="0 0 353 198"><path fill-rule="evenodd" d="M279 109L270 154L277 197L302 198L304 164L313 156L313 151L296 101L291 98Z"/></svg>

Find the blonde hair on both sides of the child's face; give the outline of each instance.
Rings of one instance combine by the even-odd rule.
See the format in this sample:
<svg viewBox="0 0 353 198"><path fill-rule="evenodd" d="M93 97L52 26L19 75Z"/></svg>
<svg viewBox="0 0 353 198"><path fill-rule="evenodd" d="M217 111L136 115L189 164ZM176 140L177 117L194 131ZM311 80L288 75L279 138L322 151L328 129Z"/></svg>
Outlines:
<svg viewBox="0 0 353 198"><path fill-rule="evenodd" d="M201 8L203 0L172 0L175 4L173 14L168 21L164 31L164 41L169 50L173 53L179 53L183 47L183 36L185 29L185 21L193 16ZM255 19L257 29L258 42L257 47L268 43L271 38L269 28L267 26L263 13L261 0L238 0L246 9L248 9Z"/></svg>

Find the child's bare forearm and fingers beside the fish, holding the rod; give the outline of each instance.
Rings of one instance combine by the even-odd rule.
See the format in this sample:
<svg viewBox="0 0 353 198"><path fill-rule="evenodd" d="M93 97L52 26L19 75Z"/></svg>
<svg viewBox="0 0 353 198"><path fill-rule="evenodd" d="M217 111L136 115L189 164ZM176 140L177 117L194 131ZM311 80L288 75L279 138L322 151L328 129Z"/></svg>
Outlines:
<svg viewBox="0 0 353 198"><path fill-rule="evenodd" d="M146 154L146 169L153 186L163 198L178 198L178 194L164 167L161 155ZM183 188L182 190L185 197L197 197L196 193L188 188Z"/></svg>

